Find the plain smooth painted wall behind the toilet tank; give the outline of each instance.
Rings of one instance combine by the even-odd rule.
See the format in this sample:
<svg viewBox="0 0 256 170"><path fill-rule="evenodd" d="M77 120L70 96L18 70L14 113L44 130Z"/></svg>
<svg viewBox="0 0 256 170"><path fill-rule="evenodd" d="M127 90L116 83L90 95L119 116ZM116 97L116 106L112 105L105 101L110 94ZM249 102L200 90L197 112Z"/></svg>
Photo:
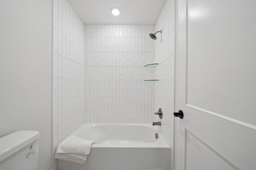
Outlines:
<svg viewBox="0 0 256 170"><path fill-rule="evenodd" d="M39 131L37 170L50 170L52 1L1 0L0 21L0 137Z"/></svg>

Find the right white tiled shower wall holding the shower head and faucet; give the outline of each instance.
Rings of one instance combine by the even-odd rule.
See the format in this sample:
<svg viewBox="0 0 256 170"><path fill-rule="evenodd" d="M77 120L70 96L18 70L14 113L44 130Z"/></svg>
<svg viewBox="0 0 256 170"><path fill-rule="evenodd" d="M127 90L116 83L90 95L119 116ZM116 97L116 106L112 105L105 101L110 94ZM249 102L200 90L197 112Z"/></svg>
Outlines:
<svg viewBox="0 0 256 170"><path fill-rule="evenodd" d="M156 99L155 108L162 108L162 126L158 127L166 141L171 146L171 170L174 162L174 62L175 62L175 33L174 33L174 0L166 0L164 8L156 22L156 31L162 29L162 36L158 33L156 40ZM155 116L155 121L160 121Z"/></svg>

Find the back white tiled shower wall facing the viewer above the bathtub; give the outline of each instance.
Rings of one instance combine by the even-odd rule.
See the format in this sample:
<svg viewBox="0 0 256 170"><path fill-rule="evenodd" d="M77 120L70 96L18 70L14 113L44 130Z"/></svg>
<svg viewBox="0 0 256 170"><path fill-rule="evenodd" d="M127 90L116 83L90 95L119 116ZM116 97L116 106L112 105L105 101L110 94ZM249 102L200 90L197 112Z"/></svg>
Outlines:
<svg viewBox="0 0 256 170"><path fill-rule="evenodd" d="M154 25L84 25L85 123L152 123Z"/></svg>

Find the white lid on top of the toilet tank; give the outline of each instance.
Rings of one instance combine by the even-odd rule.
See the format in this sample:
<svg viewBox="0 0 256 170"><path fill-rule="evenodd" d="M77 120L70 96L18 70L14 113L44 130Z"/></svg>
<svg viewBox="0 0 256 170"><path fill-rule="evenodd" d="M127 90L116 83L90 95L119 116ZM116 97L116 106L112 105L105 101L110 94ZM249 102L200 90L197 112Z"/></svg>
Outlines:
<svg viewBox="0 0 256 170"><path fill-rule="evenodd" d="M0 162L40 137L38 131L16 131L0 138Z"/></svg>

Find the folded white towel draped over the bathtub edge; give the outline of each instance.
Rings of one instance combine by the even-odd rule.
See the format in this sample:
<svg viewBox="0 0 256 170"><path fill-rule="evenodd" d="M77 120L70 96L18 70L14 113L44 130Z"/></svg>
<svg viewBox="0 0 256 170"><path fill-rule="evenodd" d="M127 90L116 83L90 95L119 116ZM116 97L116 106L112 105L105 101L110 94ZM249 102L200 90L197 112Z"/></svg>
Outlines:
<svg viewBox="0 0 256 170"><path fill-rule="evenodd" d="M71 135L58 145L55 158L84 164L94 141Z"/></svg>

